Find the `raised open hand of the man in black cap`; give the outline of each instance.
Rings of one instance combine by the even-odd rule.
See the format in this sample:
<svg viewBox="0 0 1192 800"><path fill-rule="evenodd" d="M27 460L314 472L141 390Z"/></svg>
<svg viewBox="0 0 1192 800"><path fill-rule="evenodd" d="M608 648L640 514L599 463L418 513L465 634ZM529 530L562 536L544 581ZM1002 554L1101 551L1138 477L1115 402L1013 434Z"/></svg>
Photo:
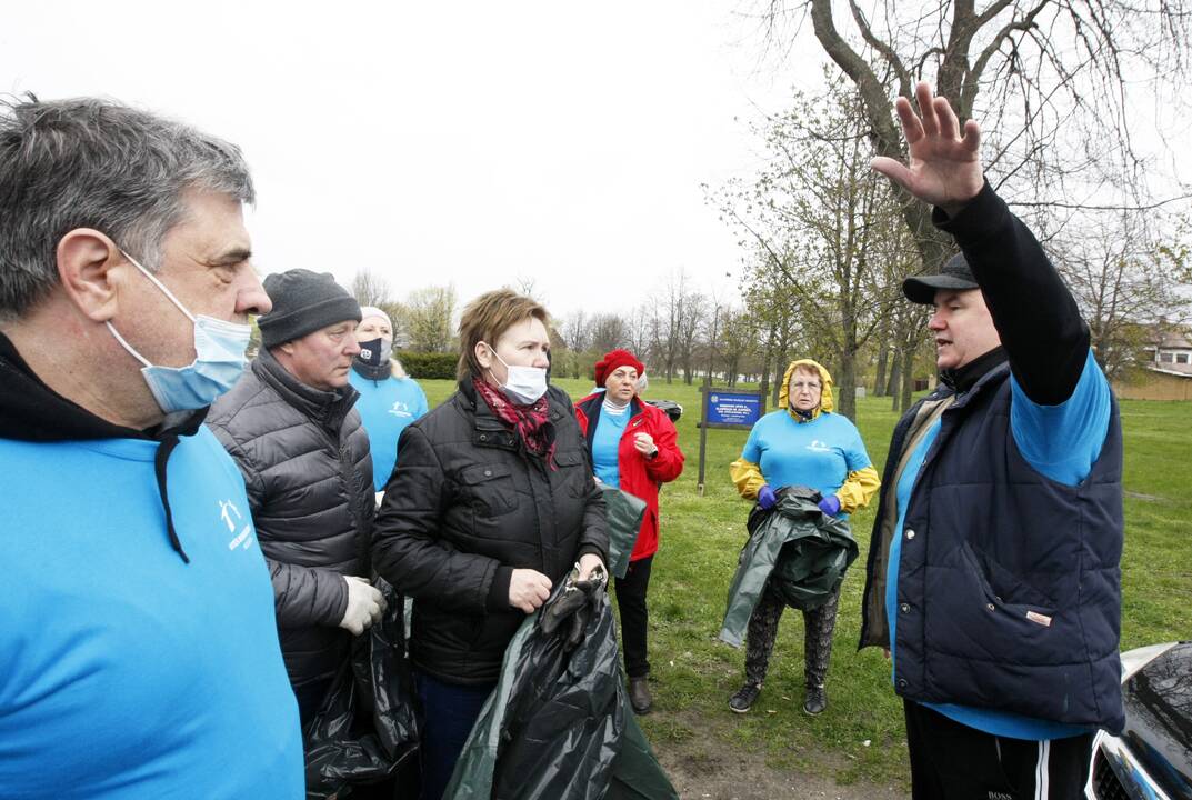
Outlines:
<svg viewBox="0 0 1192 800"><path fill-rule="evenodd" d="M870 167L898 181L924 203L937 205L952 216L985 185L979 160L981 128L969 119L962 131L951 104L945 98L933 98L927 83L915 86L914 94L921 117L906 98L894 101L909 163L877 156Z"/></svg>

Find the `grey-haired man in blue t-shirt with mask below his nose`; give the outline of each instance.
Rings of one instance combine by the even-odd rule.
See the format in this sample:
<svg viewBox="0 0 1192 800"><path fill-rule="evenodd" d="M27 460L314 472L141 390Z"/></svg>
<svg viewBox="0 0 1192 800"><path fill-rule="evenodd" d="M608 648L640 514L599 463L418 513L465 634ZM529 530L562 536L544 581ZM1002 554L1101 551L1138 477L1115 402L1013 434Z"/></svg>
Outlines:
<svg viewBox="0 0 1192 800"><path fill-rule="evenodd" d="M0 796L300 798L244 483L240 151L95 99L0 105Z"/></svg>

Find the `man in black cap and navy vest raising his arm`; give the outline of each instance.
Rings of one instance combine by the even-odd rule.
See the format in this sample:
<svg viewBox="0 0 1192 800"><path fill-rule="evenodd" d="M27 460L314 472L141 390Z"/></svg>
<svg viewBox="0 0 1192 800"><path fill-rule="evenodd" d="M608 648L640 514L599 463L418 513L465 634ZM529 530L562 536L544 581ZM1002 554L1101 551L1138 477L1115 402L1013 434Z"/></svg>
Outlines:
<svg viewBox="0 0 1192 800"><path fill-rule="evenodd" d="M985 182L980 130L931 89L896 104L909 166L962 254L904 292L931 304L940 386L894 430L861 646L888 650L913 796L1079 798L1093 733L1123 726L1122 433L1088 328L1038 241Z"/></svg>

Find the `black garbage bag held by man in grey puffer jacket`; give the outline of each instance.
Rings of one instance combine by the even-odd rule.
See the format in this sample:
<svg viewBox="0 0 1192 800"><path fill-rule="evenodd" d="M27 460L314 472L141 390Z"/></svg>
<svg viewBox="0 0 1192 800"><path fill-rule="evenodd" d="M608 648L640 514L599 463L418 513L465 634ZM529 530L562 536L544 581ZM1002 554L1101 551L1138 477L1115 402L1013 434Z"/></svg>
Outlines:
<svg viewBox="0 0 1192 800"><path fill-rule="evenodd" d="M384 781L417 751L414 682L405 656L403 597L383 578L381 620L352 641L352 656L306 725L308 800L346 798Z"/></svg>

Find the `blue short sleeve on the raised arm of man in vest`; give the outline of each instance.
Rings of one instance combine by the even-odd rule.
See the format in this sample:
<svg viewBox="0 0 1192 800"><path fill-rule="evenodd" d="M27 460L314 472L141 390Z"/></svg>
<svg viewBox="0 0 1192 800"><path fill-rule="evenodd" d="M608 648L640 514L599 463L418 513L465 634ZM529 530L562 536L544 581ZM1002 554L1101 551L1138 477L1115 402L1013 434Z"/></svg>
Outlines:
<svg viewBox="0 0 1192 800"><path fill-rule="evenodd" d="M1110 429L1110 383L1088 352L1072 396L1058 405L1039 405L1011 376L1010 429L1018 451L1035 470L1074 486L1093 469Z"/></svg>

